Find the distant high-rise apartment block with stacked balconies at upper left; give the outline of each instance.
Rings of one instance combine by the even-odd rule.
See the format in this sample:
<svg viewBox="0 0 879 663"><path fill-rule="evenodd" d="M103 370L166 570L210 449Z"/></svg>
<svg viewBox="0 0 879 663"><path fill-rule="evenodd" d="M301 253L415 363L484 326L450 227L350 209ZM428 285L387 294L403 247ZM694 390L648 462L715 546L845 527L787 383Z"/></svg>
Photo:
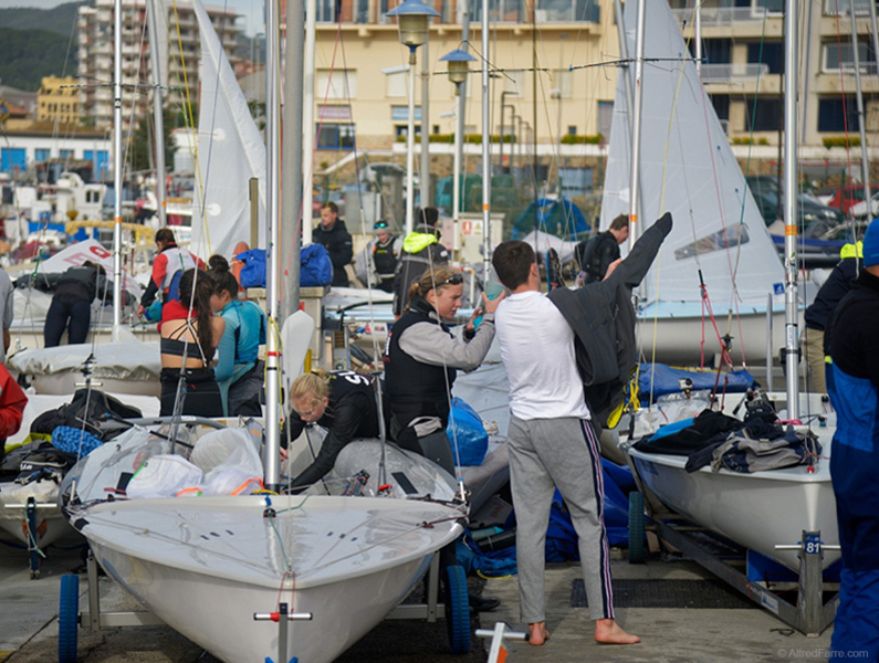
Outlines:
<svg viewBox="0 0 879 663"><path fill-rule="evenodd" d="M198 99L198 63L201 54L198 22L191 2L155 0L158 32L154 39L148 29L147 0L123 0L122 70L123 117L128 126L145 115L151 103L153 83L150 49L157 49L160 67L167 72L164 97L172 107L189 98ZM79 9L79 76L82 114L95 127L113 122L113 7L114 0L94 0ZM241 32L239 15L230 10L206 7L223 49L232 63ZM154 43L155 42L155 43ZM187 94L188 93L188 94Z"/></svg>

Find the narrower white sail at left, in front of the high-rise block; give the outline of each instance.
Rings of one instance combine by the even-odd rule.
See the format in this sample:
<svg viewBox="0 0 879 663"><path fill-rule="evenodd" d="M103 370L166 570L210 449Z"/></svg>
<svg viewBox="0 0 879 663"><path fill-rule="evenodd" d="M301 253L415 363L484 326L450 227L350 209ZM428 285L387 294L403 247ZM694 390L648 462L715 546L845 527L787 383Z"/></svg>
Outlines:
<svg viewBox="0 0 879 663"><path fill-rule="evenodd" d="M250 240L249 180L260 181L260 246L265 248L265 145L201 0L192 7L201 39L197 182L191 250L230 257ZM203 209L202 209L203 207ZM253 246L251 246L253 249Z"/></svg>

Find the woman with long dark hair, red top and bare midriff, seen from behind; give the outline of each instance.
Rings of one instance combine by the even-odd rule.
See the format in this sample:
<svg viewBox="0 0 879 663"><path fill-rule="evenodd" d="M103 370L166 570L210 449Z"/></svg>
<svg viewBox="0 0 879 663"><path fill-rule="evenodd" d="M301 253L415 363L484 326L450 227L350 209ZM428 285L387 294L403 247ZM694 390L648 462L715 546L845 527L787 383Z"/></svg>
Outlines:
<svg viewBox="0 0 879 663"><path fill-rule="evenodd" d="M222 417L220 387L211 360L220 345L226 323L210 307L213 281L201 270L187 270L180 276L180 301L161 311L161 410L174 414L177 386L182 377L181 414Z"/></svg>

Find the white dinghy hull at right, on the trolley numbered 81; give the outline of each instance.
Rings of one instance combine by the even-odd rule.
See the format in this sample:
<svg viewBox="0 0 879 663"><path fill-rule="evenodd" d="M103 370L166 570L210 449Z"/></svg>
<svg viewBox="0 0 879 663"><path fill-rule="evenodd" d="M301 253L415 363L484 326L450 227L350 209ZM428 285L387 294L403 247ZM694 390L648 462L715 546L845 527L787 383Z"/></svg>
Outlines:
<svg viewBox="0 0 879 663"><path fill-rule="evenodd" d="M629 454L647 487L668 507L794 571L799 570L798 552L776 550L776 545L799 543L804 530L820 532L826 545L839 544L828 460L814 474L802 465L754 474L710 467L688 473L686 456L634 449ZM822 565L838 558L838 550L825 549Z"/></svg>

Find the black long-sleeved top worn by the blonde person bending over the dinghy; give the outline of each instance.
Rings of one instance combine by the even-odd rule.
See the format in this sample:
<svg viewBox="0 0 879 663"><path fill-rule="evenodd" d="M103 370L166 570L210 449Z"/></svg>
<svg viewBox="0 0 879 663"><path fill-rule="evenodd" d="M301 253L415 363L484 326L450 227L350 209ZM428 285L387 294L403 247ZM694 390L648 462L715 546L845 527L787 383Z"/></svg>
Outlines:
<svg viewBox="0 0 879 663"><path fill-rule="evenodd" d="M290 440L295 440L305 428L300 415L290 414ZM329 373L329 403L317 423L327 430L317 457L291 484L310 486L321 481L333 469L336 456L355 438L378 436L378 408L373 380L352 371Z"/></svg>

